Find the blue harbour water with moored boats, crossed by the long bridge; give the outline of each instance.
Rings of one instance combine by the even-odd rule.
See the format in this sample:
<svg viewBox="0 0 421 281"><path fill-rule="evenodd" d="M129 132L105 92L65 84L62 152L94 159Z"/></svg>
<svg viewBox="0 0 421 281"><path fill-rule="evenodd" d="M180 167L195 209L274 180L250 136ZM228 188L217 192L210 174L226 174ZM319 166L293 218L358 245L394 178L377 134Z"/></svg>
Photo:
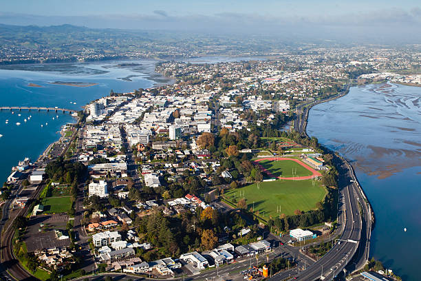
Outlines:
<svg viewBox="0 0 421 281"><path fill-rule="evenodd" d="M116 67L118 63L121 62L18 65L17 68L21 70L0 70L0 105L58 106L83 110L83 105L96 98L107 96L111 89L114 92L133 92L140 87L155 85L149 78L149 74L153 74L155 65L153 61L136 62L140 64L138 69ZM131 81L119 79L131 75L136 75L130 78ZM98 83L98 85L73 87L50 84L54 81ZM42 87L30 87L29 83ZM24 119L28 119L28 116L32 118L25 123ZM8 124L6 119L9 120ZM16 125L17 122L21 125ZM0 138L2 156L0 180L6 180L11 167L17 165L19 160L25 157L36 160L50 143L60 138L57 132L61 126L71 122L74 122L74 118L61 112L28 112L28 110L21 112L15 110L14 114L9 111L0 112L0 134L3 135Z"/></svg>

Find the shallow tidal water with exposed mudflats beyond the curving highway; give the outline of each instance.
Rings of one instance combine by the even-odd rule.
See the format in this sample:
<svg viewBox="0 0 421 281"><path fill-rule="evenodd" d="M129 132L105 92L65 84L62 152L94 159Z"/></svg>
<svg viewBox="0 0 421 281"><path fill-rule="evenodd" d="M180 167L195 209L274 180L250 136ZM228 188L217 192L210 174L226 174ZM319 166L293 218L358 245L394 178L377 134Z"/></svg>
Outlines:
<svg viewBox="0 0 421 281"><path fill-rule="evenodd" d="M352 161L376 214L370 256L420 280L421 87L352 87L310 110L307 134Z"/></svg>

